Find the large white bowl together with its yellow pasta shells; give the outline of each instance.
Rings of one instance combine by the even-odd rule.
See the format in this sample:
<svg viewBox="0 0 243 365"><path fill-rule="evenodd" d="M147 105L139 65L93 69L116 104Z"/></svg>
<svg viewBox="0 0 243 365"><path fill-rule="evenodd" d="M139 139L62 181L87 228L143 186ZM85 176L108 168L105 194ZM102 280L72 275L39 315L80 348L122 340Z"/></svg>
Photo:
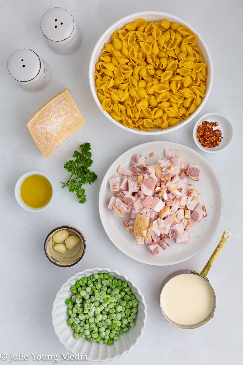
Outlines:
<svg viewBox="0 0 243 365"><path fill-rule="evenodd" d="M131 14L111 25L89 64L95 103L115 125L137 134L171 132L206 103L213 67L198 32L177 16Z"/></svg>

